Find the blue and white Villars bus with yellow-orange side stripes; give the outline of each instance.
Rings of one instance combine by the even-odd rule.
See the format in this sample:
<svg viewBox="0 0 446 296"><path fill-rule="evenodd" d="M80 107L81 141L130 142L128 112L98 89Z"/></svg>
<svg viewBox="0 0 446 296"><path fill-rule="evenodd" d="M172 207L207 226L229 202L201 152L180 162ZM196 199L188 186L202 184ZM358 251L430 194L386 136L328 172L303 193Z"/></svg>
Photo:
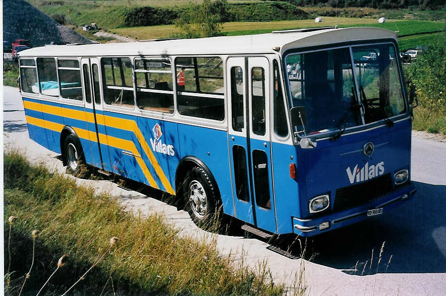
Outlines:
<svg viewBox="0 0 446 296"><path fill-rule="evenodd" d="M413 192L394 32L322 28L20 53L31 139L168 192L195 223L313 236Z"/></svg>

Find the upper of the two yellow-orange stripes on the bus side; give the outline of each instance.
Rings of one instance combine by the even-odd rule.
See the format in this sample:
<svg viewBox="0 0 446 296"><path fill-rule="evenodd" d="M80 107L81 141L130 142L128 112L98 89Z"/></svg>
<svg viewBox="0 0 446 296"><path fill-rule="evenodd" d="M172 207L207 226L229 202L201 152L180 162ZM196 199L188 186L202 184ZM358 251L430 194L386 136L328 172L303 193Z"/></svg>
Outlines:
<svg viewBox="0 0 446 296"><path fill-rule="evenodd" d="M23 103L24 103L25 108L27 108L27 109L45 112L45 113L49 113L49 114L54 114L54 115L58 115L58 116L62 116L62 117L68 117L68 118L72 118L72 119L78 119L78 120L82 120L82 121L86 120L87 122L94 123L93 113L79 111L79 110L73 110L73 109L64 108L64 107L55 107L55 106L50 106L50 105L40 104L40 103L35 103L35 102L30 102L30 101L23 101ZM117 117L101 115L101 114L96 113L96 121L98 124L101 124L101 125L133 131L133 133L136 135L136 138L138 139L139 143L141 144L141 147L144 150L147 158L149 159L150 164L153 166L156 174L158 175L159 179L161 180L162 185L164 186L164 188L166 189L167 192L175 195L175 191L172 188L172 185L170 184L168 178L165 176L164 172L162 171L161 166L158 164L155 156L153 155L153 152L151 151L149 145L147 144L147 141L145 140L144 136L142 135L141 130L138 128L138 125L134 120L117 118ZM91 134L90 134L90 136L91 136ZM108 137L110 137L110 136L108 136ZM86 139L91 139L91 140L95 141L94 138L95 138L95 136L89 137ZM102 140L99 139L99 141L103 144L107 144L107 145L109 144L108 140L105 140L104 142L102 142ZM110 145L114 146L113 144L110 144ZM133 145L134 145L134 143L133 143ZM126 150L126 149L124 149L124 150ZM132 152L132 153L137 155L137 153L134 153L134 152ZM147 172L148 172L148 170L147 170ZM150 173L149 173L149 176L153 180ZM149 180L149 183L151 184L150 179L148 179L148 180ZM150 185L150 186L152 186L152 185ZM155 187L155 186L152 186L152 187ZM155 188L158 188L158 187L156 186Z"/></svg>

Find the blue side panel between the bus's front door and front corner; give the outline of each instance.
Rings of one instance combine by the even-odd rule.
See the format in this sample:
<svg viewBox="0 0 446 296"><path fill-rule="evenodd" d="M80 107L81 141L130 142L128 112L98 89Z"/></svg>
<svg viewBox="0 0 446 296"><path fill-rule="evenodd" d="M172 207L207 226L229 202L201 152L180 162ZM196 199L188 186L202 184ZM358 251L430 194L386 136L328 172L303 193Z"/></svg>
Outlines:
<svg viewBox="0 0 446 296"><path fill-rule="evenodd" d="M300 212L299 173L294 145L272 142L272 167L274 174L275 208L278 234L293 232L291 217ZM293 157L293 159L291 159ZM296 166L296 179L290 177L290 164Z"/></svg>

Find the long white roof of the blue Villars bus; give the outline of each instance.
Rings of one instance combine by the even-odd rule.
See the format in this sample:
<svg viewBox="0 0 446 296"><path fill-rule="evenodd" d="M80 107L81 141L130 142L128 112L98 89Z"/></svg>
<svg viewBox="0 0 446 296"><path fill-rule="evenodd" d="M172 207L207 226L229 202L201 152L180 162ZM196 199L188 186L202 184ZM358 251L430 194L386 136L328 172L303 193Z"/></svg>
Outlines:
<svg viewBox="0 0 446 296"><path fill-rule="evenodd" d="M372 27L324 29L309 32L296 30L258 35L222 36L200 39L42 46L22 51L20 52L20 56L132 56L283 53L285 50L290 48L383 38L396 39L397 34L393 31Z"/></svg>

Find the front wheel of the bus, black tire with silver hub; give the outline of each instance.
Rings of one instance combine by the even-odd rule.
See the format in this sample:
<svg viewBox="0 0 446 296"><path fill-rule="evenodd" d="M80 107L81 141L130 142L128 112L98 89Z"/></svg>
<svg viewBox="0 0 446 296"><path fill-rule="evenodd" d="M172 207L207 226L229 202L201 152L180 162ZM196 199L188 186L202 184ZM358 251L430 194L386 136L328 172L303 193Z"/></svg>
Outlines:
<svg viewBox="0 0 446 296"><path fill-rule="evenodd" d="M194 223L202 228L217 226L221 213L221 201L208 174L200 167L189 170L183 185L184 209L189 212Z"/></svg>

